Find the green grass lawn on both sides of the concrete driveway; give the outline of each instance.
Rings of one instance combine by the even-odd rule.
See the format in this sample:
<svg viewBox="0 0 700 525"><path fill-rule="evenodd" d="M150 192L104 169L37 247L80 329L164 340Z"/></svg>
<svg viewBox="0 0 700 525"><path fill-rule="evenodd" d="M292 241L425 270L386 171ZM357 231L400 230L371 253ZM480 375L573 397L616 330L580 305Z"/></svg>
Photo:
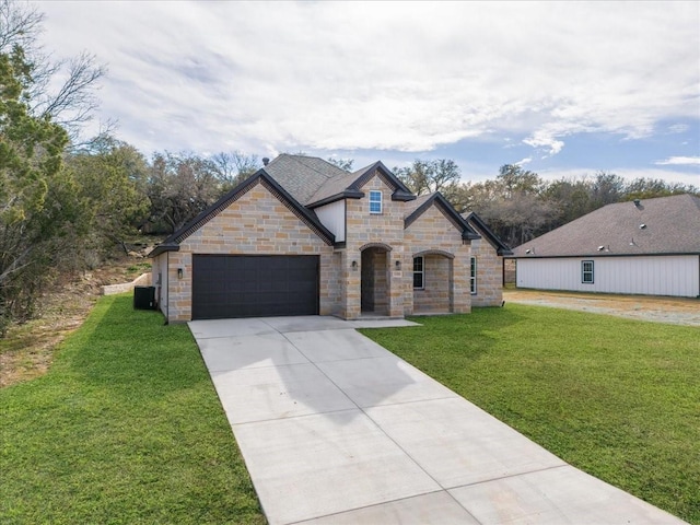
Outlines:
<svg viewBox="0 0 700 525"><path fill-rule="evenodd" d="M363 330L569 463L700 525L700 328L508 304ZM265 523L197 347L103 298L0 388L0 523Z"/></svg>

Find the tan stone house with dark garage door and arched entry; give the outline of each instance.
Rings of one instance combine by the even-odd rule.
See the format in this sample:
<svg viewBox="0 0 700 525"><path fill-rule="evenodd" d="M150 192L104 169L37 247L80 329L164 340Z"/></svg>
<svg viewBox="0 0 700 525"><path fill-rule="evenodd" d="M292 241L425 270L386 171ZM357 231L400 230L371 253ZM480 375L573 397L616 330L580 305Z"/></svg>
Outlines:
<svg viewBox="0 0 700 525"><path fill-rule="evenodd" d="M501 304L503 255L475 214L416 197L381 162L281 154L150 254L168 322L402 317Z"/></svg>

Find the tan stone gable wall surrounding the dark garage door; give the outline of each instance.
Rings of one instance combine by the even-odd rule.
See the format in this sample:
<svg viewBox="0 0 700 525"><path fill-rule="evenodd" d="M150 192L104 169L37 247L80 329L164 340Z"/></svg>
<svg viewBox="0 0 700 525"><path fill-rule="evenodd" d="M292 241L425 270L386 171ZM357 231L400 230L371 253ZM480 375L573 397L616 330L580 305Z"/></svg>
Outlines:
<svg viewBox="0 0 700 525"><path fill-rule="evenodd" d="M255 185L238 200L180 243L171 252L167 281L168 320L191 318L192 254L225 255L318 255L319 314L339 312L340 294L335 285L338 271L332 267L332 246L277 199L262 184ZM184 269L182 279L177 268Z"/></svg>

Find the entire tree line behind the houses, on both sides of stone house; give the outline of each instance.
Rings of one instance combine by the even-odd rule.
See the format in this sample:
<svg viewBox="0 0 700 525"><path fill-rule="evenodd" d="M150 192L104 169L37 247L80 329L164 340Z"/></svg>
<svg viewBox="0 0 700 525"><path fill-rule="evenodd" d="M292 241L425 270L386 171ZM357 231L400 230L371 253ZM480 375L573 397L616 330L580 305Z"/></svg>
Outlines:
<svg viewBox="0 0 700 525"><path fill-rule="evenodd" d="M0 0L0 336L36 313L56 278L128 252L138 233L175 232L261 167L238 151L148 159L112 122L84 139L106 69L88 52L55 60L38 43L42 21L31 4ZM329 161L352 170L352 160ZM476 211L512 246L609 202L698 192L607 173L545 183L514 165L492 180L463 183L451 160L395 172L419 195L440 190L458 211Z"/></svg>

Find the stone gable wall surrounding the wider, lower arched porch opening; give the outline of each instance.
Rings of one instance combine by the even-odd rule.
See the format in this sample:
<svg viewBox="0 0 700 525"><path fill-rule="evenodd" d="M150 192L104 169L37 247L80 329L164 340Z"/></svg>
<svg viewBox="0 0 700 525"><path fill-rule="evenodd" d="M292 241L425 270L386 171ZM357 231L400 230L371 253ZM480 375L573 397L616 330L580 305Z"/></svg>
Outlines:
<svg viewBox="0 0 700 525"><path fill-rule="evenodd" d="M413 223L411 223L404 234L406 246L410 246L410 250L404 254L404 268L413 268L413 257L427 253L431 255L425 261L433 259L434 252L451 254L454 259L445 256L440 258L450 261L452 266L452 305L451 311L455 314L467 313L471 311L471 294L469 293L469 256L471 254L469 242L462 240L462 231L458 230L445 214L436 207L432 206L425 210ZM433 252L433 254L430 254ZM442 269L435 268L444 275L444 266ZM428 270L428 268L427 268ZM425 283L430 282L432 277L430 272L425 273ZM413 288L412 271L410 272L410 290ZM411 293L411 298L420 295L419 291ZM432 303L419 300L420 304L407 304L405 307L406 315L423 311L440 311L444 307L444 301L441 295L435 295ZM413 301L411 301L412 303Z"/></svg>

